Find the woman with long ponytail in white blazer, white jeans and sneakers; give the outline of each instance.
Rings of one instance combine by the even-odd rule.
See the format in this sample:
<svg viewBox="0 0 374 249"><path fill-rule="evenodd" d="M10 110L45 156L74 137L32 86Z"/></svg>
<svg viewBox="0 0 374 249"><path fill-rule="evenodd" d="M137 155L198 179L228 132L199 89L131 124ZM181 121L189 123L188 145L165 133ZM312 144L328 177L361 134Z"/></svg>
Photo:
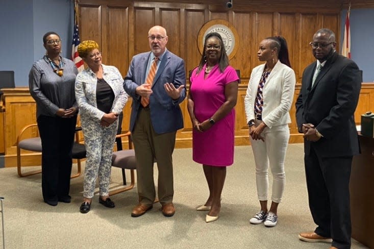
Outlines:
<svg viewBox="0 0 374 249"><path fill-rule="evenodd" d="M253 224L277 225L278 204L285 186L284 161L290 136L295 73L288 59L283 37L261 41L257 56L265 64L252 70L244 98L246 120L256 163L256 185L261 210L250 219ZM271 206L267 208L268 167L273 176Z"/></svg>

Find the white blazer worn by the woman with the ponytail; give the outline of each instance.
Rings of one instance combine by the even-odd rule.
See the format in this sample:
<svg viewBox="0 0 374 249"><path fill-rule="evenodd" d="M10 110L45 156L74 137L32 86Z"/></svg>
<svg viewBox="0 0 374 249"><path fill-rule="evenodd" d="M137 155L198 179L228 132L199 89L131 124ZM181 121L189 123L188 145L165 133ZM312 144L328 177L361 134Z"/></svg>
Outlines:
<svg viewBox="0 0 374 249"><path fill-rule="evenodd" d="M265 64L252 70L250 82L244 98L245 115L247 123L255 119L255 99L257 88L264 71ZM262 96L262 121L271 129L291 122L290 114L293 93L295 91L296 77L292 68L282 64L280 60L271 70L265 82Z"/></svg>

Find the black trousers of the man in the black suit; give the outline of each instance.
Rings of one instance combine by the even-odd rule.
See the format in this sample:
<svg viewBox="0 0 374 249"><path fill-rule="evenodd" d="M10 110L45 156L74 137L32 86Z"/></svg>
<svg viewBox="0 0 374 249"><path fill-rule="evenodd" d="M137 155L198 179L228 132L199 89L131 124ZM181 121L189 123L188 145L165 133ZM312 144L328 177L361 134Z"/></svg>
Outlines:
<svg viewBox="0 0 374 249"><path fill-rule="evenodd" d="M317 225L315 233L333 239L332 246L351 248L350 176L352 156L322 158L305 155L309 208Z"/></svg>

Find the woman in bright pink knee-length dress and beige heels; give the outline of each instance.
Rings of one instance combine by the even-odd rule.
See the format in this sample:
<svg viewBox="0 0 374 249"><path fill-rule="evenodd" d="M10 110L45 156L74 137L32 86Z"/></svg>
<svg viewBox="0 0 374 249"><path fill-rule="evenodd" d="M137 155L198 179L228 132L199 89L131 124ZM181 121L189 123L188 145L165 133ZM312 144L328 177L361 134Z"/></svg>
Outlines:
<svg viewBox="0 0 374 249"><path fill-rule="evenodd" d="M234 126L238 76L229 65L222 37L209 33L204 52L190 79L188 112L193 161L203 164L209 197L198 211L209 211L206 222L218 219L226 167L234 161Z"/></svg>

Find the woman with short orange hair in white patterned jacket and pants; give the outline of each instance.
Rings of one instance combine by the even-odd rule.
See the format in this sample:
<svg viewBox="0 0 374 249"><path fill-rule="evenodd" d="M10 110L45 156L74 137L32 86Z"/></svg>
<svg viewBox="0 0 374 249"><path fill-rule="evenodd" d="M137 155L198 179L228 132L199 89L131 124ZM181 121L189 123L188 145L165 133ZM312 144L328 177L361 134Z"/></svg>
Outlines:
<svg viewBox="0 0 374 249"><path fill-rule="evenodd" d="M88 67L78 73L76 98L81 115L82 131L87 151L81 213L90 211L98 176L98 202L114 208L109 196L112 153L118 128L118 115L127 102L123 78L114 66L102 64L102 55L95 41L83 41L79 56Z"/></svg>

